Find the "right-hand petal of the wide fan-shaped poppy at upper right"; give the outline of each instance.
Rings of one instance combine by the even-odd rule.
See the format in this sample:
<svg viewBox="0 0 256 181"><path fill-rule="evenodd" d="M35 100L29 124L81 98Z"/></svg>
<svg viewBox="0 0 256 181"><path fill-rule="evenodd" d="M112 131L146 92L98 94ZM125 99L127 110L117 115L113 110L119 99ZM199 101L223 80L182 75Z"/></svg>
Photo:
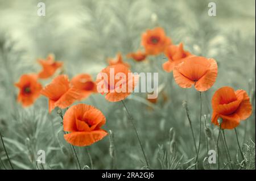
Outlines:
<svg viewBox="0 0 256 181"><path fill-rule="evenodd" d="M195 89L198 91L206 91L210 89L216 81L218 74L217 62L213 58L209 58L208 61L210 62L209 70L195 84Z"/></svg>

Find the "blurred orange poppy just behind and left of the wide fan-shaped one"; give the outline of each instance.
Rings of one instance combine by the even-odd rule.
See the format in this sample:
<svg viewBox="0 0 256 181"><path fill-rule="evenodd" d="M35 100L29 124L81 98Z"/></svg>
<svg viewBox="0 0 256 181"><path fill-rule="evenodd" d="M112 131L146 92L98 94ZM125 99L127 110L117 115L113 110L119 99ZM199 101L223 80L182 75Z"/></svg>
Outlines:
<svg viewBox="0 0 256 181"><path fill-rule="evenodd" d="M167 72L174 70L174 66L180 64L185 58L192 56L191 53L183 49L183 44L169 45L164 51L168 61L163 64L163 69Z"/></svg>

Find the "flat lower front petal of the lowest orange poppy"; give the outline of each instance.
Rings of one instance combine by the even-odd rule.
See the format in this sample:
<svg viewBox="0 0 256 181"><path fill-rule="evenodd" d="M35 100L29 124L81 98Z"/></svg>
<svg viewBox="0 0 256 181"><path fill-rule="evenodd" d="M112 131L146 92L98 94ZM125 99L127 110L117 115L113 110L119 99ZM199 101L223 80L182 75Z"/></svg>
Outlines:
<svg viewBox="0 0 256 181"><path fill-rule="evenodd" d="M67 142L75 146L89 146L94 142L100 141L107 136L108 133L103 129L92 132L72 132L64 134L64 138Z"/></svg>

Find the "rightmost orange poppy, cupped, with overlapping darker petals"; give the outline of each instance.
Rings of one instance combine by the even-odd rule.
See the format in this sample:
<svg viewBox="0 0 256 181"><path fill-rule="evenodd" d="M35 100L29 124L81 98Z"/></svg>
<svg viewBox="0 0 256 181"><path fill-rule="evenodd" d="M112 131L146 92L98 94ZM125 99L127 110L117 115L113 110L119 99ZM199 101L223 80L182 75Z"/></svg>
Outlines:
<svg viewBox="0 0 256 181"><path fill-rule="evenodd" d="M244 90L234 91L232 87L221 87L212 97L212 123L218 125L218 117L222 118L222 129L233 129L240 120L250 117L252 106L250 98Z"/></svg>

